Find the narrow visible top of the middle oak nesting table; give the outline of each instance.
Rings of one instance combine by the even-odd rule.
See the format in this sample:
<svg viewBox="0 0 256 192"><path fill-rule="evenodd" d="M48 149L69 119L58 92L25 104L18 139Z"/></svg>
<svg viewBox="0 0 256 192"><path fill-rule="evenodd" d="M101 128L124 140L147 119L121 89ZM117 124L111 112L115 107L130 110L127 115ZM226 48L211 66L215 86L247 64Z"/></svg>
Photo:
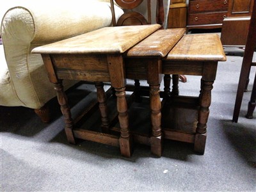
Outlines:
<svg viewBox="0 0 256 192"><path fill-rule="evenodd" d="M154 32L127 51L129 57L164 57L179 42L186 29L163 29Z"/></svg>

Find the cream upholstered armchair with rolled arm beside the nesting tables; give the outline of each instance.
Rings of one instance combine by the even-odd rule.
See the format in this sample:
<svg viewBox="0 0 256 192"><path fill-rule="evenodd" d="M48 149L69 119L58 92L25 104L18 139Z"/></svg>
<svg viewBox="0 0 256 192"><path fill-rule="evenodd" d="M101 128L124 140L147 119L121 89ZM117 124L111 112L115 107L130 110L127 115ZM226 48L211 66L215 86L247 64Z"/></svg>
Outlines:
<svg viewBox="0 0 256 192"><path fill-rule="evenodd" d="M35 109L49 122L47 102L56 97L37 46L111 26L109 3L97 0L9 1L1 4L0 106ZM116 17L123 11L116 6ZM65 81L65 88L76 84Z"/></svg>

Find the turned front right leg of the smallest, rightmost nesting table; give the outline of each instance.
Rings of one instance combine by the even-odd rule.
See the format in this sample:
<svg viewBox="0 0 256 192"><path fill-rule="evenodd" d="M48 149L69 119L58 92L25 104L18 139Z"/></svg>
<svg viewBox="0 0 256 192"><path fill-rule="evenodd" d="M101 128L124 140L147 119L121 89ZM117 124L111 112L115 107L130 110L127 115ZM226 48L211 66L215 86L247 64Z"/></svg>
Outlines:
<svg viewBox="0 0 256 192"><path fill-rule="evenodd" d="M206 142L206 128L209 116L209 106L211 105L211 90L214 81L202 80L202 91L200 93L200 109L198 112L198 124L196 127L194 150L200 154L204 154Z"/></svg>

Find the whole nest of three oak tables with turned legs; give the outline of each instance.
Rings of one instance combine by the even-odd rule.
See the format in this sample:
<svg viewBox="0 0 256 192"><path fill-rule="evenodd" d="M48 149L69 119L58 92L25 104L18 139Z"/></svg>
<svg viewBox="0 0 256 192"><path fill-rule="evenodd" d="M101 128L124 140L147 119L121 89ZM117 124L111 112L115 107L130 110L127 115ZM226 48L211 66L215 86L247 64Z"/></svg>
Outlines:
<svg viewBox="0 0 256 192"><path fill-rule="evenodd" d="M33 53L42 54L49 79L54 83L65 117L68 142L75 143L75 138L80 138L120 146L121 154L129 157L132 153L133 138L134 141L150 145L152 153L161 156L163 138L167 138L195 143L195 151L204 154L212 83L218 61L225 60L220 38L216 35L184 36L185 29L157 31L160 27L156 24L102 28L33 49ZM168 81L164 83L164 92L160 92L161 74L173 74L172 92ZM178 95L179 74L202 76L199 97ZM125 99L127 78L147 80L149 84L145 87L145 92L140 92L150 99L149 135L137 134L129 129ZM62 79L95 82L102 132L76 127L78 120L72 120L67 96L63 92ZM110 127L107 97L102 82L110 82L115 88L120 138L109 134L109 130L115 127ZM163 97L162 104L160 97ZM192 111L195 112L192 116L196 116L196 119L193 118L191 125L186 124L188 131L180 130L185 120L180 117L180 114L184 114L179 111L182 109L177 109L180 106L186 106L185 109L187 106L193 106ZM191 111L188 113L191 114ZM188 119L190 117L191 115L185 116ZM180 125L177 127L177 124Z"/></svg>

